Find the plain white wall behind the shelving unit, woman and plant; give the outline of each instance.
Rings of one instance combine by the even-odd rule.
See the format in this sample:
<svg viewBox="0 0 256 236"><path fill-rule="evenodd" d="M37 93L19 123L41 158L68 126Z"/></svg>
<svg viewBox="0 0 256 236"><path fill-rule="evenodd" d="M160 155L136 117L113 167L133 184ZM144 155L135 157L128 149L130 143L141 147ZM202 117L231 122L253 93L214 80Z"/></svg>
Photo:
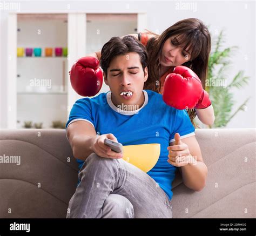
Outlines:
<svg viewBox="0 0 256 236"><path fill-rule="evenodd" d="M246 76L250 77L250 85L245 89L234 90L235 101L234 110L248 96L251 97L247 105L246 112L240 112L233 118L227 127L245 128L255 127L255 2L228 1L228 2L191 2L194 5L187 5L190 8L182 8L183 3L179 1L47 1L30 2L19 1L21 12L91 12L91 13L122 13L130 11L147 12L147 25L152 31L161 33L164 29L179 21L180 19L196 17L210 26L210 31L214 36L215 30L225 30L225 46L239 46L238 53L233 57L233 68L230 70L228 79L233 78L238 70L245 70ZM1 85L1 116L0 127L6 126L5 116L2 112L6 111L4 91L6 78L6 61L8 59L6 51L6 27L7 10L0 10L1 18L1 45L0 45L0 85ZM245 59L248 58L248 59Z"/></svg>

